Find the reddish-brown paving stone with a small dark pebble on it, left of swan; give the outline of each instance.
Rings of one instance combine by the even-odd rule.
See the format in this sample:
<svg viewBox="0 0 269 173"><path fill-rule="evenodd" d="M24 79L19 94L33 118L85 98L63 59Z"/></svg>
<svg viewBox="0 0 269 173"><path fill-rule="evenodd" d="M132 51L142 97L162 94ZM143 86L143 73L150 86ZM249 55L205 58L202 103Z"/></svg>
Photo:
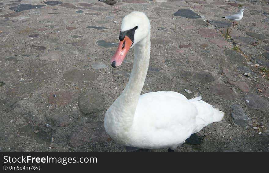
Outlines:
<svg viewBox="0 0 269 173"><path fill-rule="evenodd" d="M57 97L53 97L53 95L56 95ZM50 91L44 93L42 96L48 99L49 104L66 105L72 99L73 93L68 91Z"/></svg>

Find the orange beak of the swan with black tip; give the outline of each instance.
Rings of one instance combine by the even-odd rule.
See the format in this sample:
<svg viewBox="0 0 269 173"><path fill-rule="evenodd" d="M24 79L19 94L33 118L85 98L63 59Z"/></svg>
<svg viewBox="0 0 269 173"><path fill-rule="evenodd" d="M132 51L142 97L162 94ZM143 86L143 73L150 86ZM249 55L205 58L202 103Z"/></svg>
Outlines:
<svg viewBox="0 0 269 173"><path fill-rule="evenodd" d="M133 44L133 42L128 36L125 36L124 39L122 41L120 41L119 47L116 50L116 52L114 53L114 55L110 61L112 67L115 68L115 67L120 66L120 64L123 62L123 59L127 55L132 44Z"/></svg>

